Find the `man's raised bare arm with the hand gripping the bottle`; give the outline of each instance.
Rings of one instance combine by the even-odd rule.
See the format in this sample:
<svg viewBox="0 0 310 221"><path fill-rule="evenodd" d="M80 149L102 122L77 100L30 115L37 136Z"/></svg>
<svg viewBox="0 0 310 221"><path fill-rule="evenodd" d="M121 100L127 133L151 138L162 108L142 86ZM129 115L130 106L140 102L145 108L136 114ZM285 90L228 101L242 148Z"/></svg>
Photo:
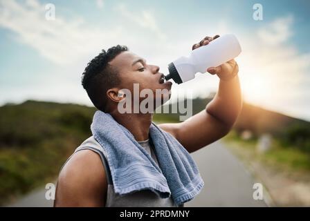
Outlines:
<svg viewBox="0 0 310 221"><path fill-rule="evenodd" d="M207 45L217 37L206 37L192 48L194 50ZM217 94L206 109L185 122L159 126L174 135L190 153L224 137L235 124L242 107L238 71L234 59L221 66L208 68L208 73L216 74L220 81Z"/></svg>

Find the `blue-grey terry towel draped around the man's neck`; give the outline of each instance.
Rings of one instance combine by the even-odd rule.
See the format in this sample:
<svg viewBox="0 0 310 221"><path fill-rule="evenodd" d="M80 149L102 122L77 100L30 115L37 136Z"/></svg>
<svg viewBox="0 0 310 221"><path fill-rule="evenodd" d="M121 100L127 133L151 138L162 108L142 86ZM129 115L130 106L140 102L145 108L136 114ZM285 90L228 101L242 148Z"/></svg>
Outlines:
<svg viewBox="0 0 310 221"><path fill-rule="evenodd" d="M127 128L108 113L96 111L91 132L105 154L114 191L120 195L149 189L176 204L192 200L203 187L197 165L185 148L152 122L152 139L159 166Z"/></svg>

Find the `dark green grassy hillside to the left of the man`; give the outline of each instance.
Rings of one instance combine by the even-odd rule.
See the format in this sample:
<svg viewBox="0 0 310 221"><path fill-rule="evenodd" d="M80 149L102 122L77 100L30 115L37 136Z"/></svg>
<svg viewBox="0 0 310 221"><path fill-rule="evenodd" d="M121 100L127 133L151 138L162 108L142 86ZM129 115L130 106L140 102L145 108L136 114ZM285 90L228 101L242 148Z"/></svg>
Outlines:
<svg viewBox="0 0 310 221"><path fill-rule="evenodd" d="M91 135L95 109L28 101L0 107L0 204L51 182Z"/></svg>

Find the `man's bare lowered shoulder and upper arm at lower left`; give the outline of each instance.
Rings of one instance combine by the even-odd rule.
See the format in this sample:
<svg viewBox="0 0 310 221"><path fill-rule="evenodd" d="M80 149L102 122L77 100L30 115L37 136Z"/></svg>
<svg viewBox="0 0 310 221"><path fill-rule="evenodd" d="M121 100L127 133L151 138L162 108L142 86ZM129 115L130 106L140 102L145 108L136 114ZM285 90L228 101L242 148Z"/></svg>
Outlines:
<svg viewBox="0 0 310 221"><path fill-rule="evenodd" d="M78 205L87 198L104 195L107 178L100 157L91 150L73 154L57 180L56 206Z"/></svg>

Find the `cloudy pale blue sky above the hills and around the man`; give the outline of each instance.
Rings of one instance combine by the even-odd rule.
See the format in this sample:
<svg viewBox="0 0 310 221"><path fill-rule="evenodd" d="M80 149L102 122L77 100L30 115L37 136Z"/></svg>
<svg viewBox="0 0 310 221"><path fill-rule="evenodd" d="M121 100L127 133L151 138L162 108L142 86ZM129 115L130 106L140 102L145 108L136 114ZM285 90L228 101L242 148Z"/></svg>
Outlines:
<svg viewBox="0 0 310 221"><path fill-rule="evenodd" d="M45 19L46 3L55 21ZM255 21L253 5L263 6ZM80 86L88 61L125 44L167 73L206 35L235 34L247 102L310 120L310 1L0 0L0 105L26 99L91 105ZM198 74L179 90L206 96L216 76ZM175 92L175 93L174 93Z"/></svg>

